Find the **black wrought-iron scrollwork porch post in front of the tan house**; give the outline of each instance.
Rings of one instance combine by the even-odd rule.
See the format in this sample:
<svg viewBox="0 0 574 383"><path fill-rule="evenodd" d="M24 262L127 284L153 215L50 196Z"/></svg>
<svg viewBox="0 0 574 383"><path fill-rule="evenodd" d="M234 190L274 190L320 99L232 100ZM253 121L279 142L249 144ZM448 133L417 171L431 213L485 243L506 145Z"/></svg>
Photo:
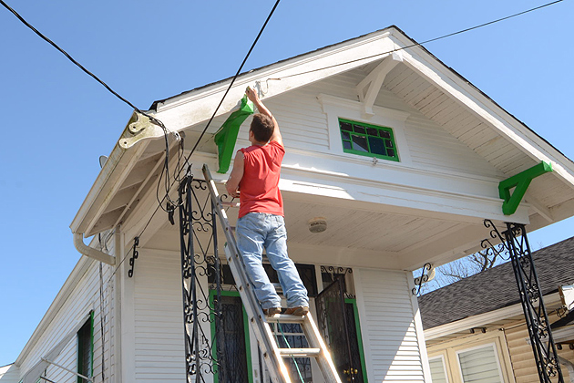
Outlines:
<svg viewBox="0 0 574 383"><path fill-rule="evenodd" d="M500 241L496 248L490 246L491 251L497 254L507 254L512 262L518 294L528 326L528 335L538 368L538 378L541 383L563 383L558 351L550 330L526 227L521 223L506 223L507 230L500 233L492 221L485 220L484 224L487 229L490 229L490 238ZM490 243L489 239L481 242L483 248L486 249L487 243Z"/></svg>

